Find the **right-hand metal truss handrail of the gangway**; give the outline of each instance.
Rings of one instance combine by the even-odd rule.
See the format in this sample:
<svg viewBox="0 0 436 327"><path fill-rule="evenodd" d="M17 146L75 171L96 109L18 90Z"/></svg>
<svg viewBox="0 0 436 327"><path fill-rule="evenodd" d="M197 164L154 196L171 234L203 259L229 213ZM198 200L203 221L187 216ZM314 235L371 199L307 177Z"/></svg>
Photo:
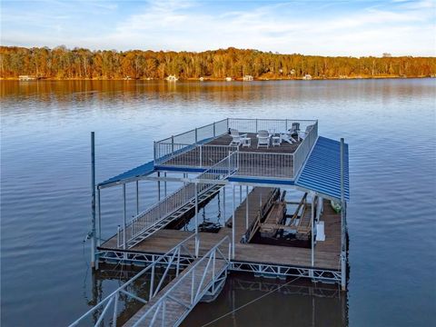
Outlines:
<svg viewBox="0 0 436 327"><path fill-rule="evenodd" d="M228 242L228 254L227 256L224 255L219 247L223 244L224 241ZM139 326L141 324L141 322L144 321L144 319L151 313L154 312L154 315L152 317L152 322L150 323L150 325L154 324L154 321L156 319L157 313L161 310L161 308L163 308L163 320L165 317L165 302L167 301L167 298L170 298L171 301L177 302L178 304L181 304L185 307L187 307L188 309L192 308L193 305L195 305L196 302L198 302L201 297L203 297L203 292L207 291L207 290L203 290L202 292L202 287L203 287L203 282L206 276L206 273L208 272L208 268L210 266L210 263L213 263L213 279L215 277L215 264L214 261L216 260L216 253L220 253L222 256L222 259L225 261L225 263L230 264L231 263L231 253L232 253L232 243L230 241L230 237L228 235L224 236L223 239L216 243L206 254L204 254L204 256L199 259L196 263L193 263L193 265L189 268L187 268L189 271L186 272L185 274L183 274L182 277L179 278L178 281L174 282L173 285L171 285L171 287L169 287L162 295L162 297L156 301L150 308L147 309L146 312L144 312L144 314L134 323L134 327ZM197 268L200 264L204 263L205 261L208 261L208 263L206 264L206 267L204 269L203 275L201 277L201 282L198 284L198 288L195 289L193 286L193 279L194 279L194 272L195 272L195 268ZM226 269L226 267L224 267L224 270ZM219 274L221 274L222 272L219 272ZM192 276L190 276L190 274L192 274ZM192 287L191 287L191 301L189 302L189 304L183 303L182 300L179 301L175 301L173 300L173 297L171 296L171 292L173 292L173 290L179 286L182 282L184 282L186 279L188 278L192 278Z"/></svg>

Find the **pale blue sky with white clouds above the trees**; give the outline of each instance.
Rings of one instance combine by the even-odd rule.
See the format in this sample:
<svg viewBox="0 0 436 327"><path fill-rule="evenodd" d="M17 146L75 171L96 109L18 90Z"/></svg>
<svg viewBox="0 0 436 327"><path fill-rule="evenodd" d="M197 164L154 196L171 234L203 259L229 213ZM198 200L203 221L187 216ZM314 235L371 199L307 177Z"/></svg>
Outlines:
<svg viewBox="0 0 436 327"><path fill-rule="evenodd" d="M0 44L436 56L436 0L1 0Z"/></svg>

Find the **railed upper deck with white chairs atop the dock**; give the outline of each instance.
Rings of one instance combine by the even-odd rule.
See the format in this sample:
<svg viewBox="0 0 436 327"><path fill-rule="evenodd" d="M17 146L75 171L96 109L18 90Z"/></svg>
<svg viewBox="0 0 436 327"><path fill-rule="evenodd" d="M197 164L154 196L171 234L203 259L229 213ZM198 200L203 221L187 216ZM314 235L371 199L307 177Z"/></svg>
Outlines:
<svg viewBox="0 0 436 327"><path fill-rule="evenodd" d="M230 130L248 142L232 143ZM268 132L268 146L258 146L260 131ZM291 139L285 140L288 136ZM278 138L276 144L273 137ZM316 120L226 118L154 142L154 164L199 172L219 165L237 176L293 180L317 138Z"/></svg>

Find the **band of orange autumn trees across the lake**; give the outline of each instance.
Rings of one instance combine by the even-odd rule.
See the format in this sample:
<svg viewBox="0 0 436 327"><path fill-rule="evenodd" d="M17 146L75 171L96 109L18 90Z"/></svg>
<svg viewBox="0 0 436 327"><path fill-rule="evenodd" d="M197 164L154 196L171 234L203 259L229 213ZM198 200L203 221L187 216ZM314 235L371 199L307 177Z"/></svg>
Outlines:
<svg viewBox="0 0 436 327"><path fill-rule="evenodd" d="M54 79L182 79L252 75L259 79L346 77L424 77L436 73L436 57L345 57L273 54L250 49L204 52L91 51L0 46L0 77L33 75Z"/></svg>

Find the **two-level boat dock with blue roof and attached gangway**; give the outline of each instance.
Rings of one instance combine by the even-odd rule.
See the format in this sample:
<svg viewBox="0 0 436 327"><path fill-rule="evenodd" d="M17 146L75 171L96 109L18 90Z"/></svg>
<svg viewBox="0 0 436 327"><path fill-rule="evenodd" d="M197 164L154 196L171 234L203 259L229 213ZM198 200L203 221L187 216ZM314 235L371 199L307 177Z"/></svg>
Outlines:
<svg viewBox="0 0 436 327"><path fill-rule="evenodd" d="M159 195L139 212L144 180L157 183ZM130 220L127 183L136 185ZM180 187L166 193L168 183ZM123 223L103 242L100 199L110 187L124 190ZM295 190L301 201L288 201L286 191ZM99 263L144 266L133 280L150 273L150 289L140 297L126 291L132 280L126 282L73 325L95 312L97 325L111 317L116 324L121 294L144 303L126 325L178 325L196 303L213 299L231 272L308 278L346 289L348 146L319 136L318 121L227 118L172 135L154 142L152 162L93 182L93 194L94 269ZM224 219L208 231L199 208L216 196ZM174 229L185 221L194 230ZM157 267L165 269L160 277ZM169 271L175 278L163 282Z"/></svg>

